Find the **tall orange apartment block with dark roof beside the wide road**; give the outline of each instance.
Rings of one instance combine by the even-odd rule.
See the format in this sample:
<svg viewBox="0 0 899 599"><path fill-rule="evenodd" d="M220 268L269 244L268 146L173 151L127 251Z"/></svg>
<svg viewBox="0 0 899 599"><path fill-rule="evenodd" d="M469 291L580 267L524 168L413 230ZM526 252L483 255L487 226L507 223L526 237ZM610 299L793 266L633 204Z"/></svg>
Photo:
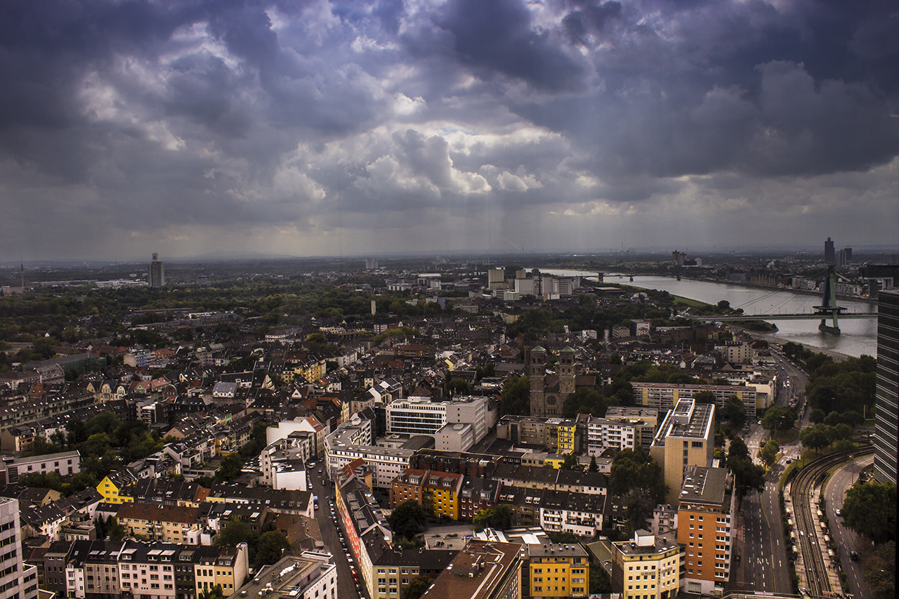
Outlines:
<svg viewBox="0 0 899 599"><path fill-rule="evenodd" d="M684 590L720 595L730 579L731 516L736 497L727 489L727 470L689 466L678 505L677 540L686 547Z"/></svg>

